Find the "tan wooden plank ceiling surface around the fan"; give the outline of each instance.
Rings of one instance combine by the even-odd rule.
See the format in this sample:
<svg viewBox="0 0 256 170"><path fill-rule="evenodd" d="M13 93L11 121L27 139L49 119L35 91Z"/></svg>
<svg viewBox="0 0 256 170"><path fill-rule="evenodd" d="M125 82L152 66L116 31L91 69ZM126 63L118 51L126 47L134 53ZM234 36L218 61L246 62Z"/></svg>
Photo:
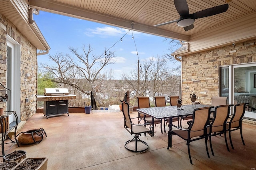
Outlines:
<svg viewBox="0 0 256 170"><path fill-rule="evenodd" d="M152 27L156 24L179 19L173 0L54 0L72 7L90 10L120 20ZM176 34L191 36L208 28L221 25L256 10L255 0L187 0L190 14L229 4L226 12L196 19L194 28L187 32L175 23L160 26L158 29ZM255 17L255 16L254 16Z"/></svg>

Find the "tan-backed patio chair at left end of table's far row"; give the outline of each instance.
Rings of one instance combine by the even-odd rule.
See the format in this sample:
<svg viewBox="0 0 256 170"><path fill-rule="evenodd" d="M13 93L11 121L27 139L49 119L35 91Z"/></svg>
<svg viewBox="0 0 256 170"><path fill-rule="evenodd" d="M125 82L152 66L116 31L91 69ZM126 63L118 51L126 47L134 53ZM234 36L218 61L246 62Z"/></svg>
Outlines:
<svg viewBox="0 0 256 170"><path fill-rule="evenodd" d="M138 108L139 109L150 107L149 97L138 96L137 99L138 99ZM146 123L151 123L152 124L152 117L151 116L138 113L138 117L141 117L144 120L144 124L146 124ZM140 120L138 120L138 123L140 123ZM154 118L154 125L159 124L159 123L160 123L161 133L163 133L162 119L155 119ZM153 131L154 131L154 127L153 127Z"/></svg>

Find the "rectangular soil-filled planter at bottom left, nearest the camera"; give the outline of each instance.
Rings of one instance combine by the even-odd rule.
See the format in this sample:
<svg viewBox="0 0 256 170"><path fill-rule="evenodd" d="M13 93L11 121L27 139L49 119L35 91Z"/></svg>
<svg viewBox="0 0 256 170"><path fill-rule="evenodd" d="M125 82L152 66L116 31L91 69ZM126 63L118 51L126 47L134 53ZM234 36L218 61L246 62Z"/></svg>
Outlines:
<svg viewBox="0 0 256 170"><path fill-rule="evenodd" d="M46 170L47 163L48 158L26 158L14 166L12 170L23 170L24 167L26 167L26 170Z"/></svg>

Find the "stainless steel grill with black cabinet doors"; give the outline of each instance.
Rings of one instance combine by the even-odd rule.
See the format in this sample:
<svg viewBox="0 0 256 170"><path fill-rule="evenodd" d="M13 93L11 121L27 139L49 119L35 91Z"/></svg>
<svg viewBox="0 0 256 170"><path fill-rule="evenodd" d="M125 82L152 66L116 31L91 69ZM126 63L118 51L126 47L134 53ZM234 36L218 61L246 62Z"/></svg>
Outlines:
<svg viewBox="0 0 256 170"><path fill-rule="evenodd" d="M44 115L48 119L51 115L68 114L68 100L76 99L66 88L45 88L44 95L37 95L37 101L44 101Z"/></svg>

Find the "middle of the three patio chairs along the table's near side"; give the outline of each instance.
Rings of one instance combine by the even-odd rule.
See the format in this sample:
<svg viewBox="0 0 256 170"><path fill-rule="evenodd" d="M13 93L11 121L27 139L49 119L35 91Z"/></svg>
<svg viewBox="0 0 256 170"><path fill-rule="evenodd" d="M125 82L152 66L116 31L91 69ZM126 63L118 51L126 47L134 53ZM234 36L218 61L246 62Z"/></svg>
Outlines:
<svg viewBox="0 0 256 170"><path fill-rule="evenodd" d="M226 121L228 120L228 116L230 113L230 107L233 105L221 105L221 106L216 106L214 113L213 113L213 119L210 119L210 132L209 132L209 136L210 136L210 147L211 147L211 151L212 151L212 155L214 156L214 152L212 149L212 138L211 136L216 136L218 134L223 134L225 136L225 143L226 143L226 147L229 151L228 148L228 142L227 142L227 138L226 138Z"/></svg>

